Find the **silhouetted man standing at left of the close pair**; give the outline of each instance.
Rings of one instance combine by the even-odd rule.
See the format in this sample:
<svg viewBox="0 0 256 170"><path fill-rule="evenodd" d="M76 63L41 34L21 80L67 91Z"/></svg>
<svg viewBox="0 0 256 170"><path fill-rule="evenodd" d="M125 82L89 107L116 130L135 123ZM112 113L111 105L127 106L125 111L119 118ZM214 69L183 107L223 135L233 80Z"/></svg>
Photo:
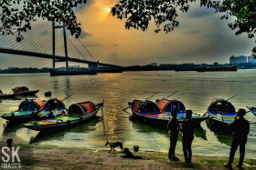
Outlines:
<svg viewBox="0 0 256 170"><path fill-rule="evenodd" d="M176 142L178 137L178 122L176 119L176 111L172 112L173 118L169 120L167 129L170 136L170 148L168 153L168 161L178 161L179 158L176 157L175 151L176 151Z"/></svg>

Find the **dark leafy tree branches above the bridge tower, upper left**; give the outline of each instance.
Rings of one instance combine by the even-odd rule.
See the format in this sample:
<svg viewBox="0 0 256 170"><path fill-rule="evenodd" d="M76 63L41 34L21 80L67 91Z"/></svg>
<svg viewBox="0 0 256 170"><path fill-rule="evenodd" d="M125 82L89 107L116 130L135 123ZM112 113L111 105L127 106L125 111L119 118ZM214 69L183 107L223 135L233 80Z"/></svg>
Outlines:
<svg viewBox="0 0 256 170"><path fill-rule="evenodd" d="M43 18L64 22L71 35L79 37L80 23L72 8L82 3L86 3L86 0L1 0L0 34L16 35L19 42L23 34L31 29L31 22Z"/></svg>

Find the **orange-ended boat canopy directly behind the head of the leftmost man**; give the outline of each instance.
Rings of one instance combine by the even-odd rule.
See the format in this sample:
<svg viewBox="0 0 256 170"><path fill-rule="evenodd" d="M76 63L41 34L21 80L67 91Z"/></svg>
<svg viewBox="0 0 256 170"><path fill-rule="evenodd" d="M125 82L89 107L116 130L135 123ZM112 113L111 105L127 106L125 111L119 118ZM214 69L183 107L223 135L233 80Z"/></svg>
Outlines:
<svg viewBox="0 0 256 170"><path fill-rule="evenodd" d="M183 105L182 102L177 100L168 100L168 99L162 98L161 100L158 101L157 106L163 112L172 112L174 110L178 110L179 112L186 111L185 105Z"/></svg>

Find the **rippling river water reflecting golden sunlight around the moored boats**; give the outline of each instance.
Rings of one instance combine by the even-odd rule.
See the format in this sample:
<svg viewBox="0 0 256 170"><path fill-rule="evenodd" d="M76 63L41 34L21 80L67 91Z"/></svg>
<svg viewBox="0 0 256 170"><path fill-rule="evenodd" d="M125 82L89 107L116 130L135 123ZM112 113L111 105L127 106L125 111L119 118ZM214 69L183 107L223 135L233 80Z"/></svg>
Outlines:
<svg viewBox="0 0 256 170"><path fill-rule="evenodd" d="M203 115L211 100L215 97L228 99L237 95L230 102L236 110L245 105L256 105L256 70L238 72L197 73L197 72L124 72L123 74L50 76L37 75L0 75L0 89L4 93L11 88L26 85L31 90L39 89L37 97L48 100L44 93L52 92L53 97L65 98L71 95L65 104L91 100L95 104L104 99L103 112L98 113L91 122L78 125L66 131L51 135L37 135L33 130L14 125L4 128L5 120L0 118L0 141L12 137L16 143L29 143L37 136L32 145L58 145L86 148L105 148L106 140L122 141L124 147L140 145L140 149L167 152L169 139L167 132L151 125L131 119L131 111L123 112L127 102L144 99L155 95L150 100L165 97L176 90L173 99L180 100L187 109ZM24 97L22 99L25 99ZM14 111L21 100L0 101L0 115ZM103 115L103 121L102 121ZM255 158L256 151L256 116L248 113L251 132L246 145L246 157ZM193 154L229 155L231 135L211 131L203 122L195 131ZM109 147L109 146L108 146ZM181 136L176 146L176 153L182 153ZM238 154L237 154L238 155Z"/></svg>

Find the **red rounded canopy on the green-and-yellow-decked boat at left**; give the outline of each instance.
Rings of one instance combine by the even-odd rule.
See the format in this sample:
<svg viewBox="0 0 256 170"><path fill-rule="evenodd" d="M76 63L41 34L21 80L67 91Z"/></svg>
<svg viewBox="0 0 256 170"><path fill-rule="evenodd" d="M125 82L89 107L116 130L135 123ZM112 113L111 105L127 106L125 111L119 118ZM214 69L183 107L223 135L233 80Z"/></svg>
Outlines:
<svg viewBox="0 0 256 170"><path fill-rule="evenodd" d="M82 102L69 106L69 115L80 116L80 115L89 115L96 110L96 106L91 102Z"/></svg>

